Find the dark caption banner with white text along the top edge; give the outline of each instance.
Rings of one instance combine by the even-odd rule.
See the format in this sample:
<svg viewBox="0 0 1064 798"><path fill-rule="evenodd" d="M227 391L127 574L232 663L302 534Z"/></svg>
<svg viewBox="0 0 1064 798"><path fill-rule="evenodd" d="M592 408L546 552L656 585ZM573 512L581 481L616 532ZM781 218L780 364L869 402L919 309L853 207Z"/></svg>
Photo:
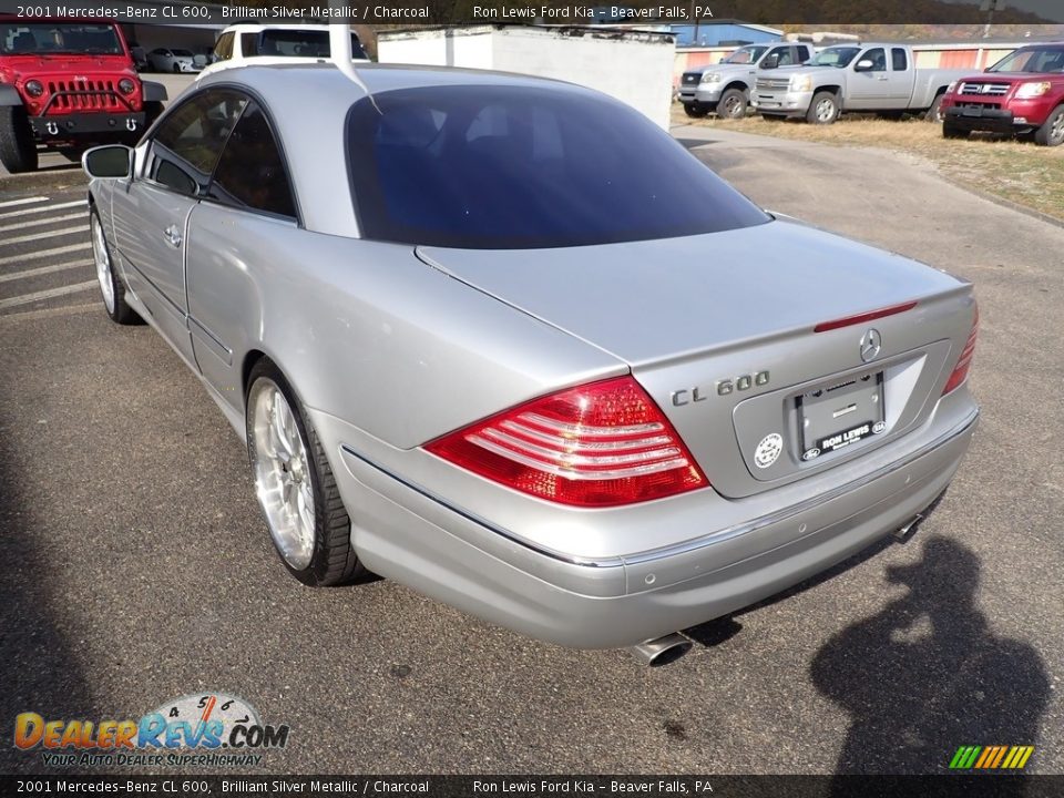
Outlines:
<svg viewBox="0 0 1064 798"><path fill-rule="evenodd" d="M641 27L740 20L766 25L1011 25L1064 39L1064 0L0 0L0 13L108 17L142 24L337 22L418 25L621 23ZM1016 31L1010 31L1015 34ZM1023 33L1021 33L1023 34Z"/></svg>

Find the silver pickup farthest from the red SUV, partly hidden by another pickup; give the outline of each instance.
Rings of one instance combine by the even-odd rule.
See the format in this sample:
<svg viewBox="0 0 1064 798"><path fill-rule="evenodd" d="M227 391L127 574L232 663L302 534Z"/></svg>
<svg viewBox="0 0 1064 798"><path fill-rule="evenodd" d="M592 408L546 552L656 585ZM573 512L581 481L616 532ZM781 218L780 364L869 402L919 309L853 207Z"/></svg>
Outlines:
<svg viewBox="0 0 1064 798"><path fill-rule="evenodd" d="M799 64L810 55L810 44L747 44L719 63L684 72L679 101L688 116L705 116L710 111L727 119L745 116L758 69Z"/></svg>

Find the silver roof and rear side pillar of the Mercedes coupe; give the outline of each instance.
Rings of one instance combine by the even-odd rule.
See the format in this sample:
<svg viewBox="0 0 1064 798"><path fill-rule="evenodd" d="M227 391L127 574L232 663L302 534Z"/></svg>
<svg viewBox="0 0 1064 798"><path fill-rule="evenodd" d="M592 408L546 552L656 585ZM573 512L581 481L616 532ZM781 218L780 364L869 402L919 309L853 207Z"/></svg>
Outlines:
<svg viewBox="0 0 1064 798"><path fill-rule="evenodd" d="M603 96L572 83L487 70L365 63L359 64L357 71L374 94L444 85L502 85L552 86L563 92ZM352 235L358 222L341 158L347 145L348 111L366 96L366 90L331 63L249 63L203 78L196 83L196 91L212 86L245 89L266 104L285 149L304 226L319 233ZM323 153L335 156L323 157ZM347 197L347 201L338 202L337 197Z"/></svg>

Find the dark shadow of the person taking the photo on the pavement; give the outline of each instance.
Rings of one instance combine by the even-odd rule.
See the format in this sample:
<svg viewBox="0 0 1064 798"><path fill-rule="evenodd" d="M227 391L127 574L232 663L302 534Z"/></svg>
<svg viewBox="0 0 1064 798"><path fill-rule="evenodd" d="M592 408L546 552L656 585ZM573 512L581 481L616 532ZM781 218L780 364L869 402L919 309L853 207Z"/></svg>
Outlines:
<svg viewBox="0 0 1064 798"><path fill-rule="evenodd" d="M920 561L887 569L909 592L817 652L814 685L851 717L837 774L943 773L960 746L1037 743L1045 665L990 630L975 604L979 573L970 549L933 535ZM1019 795L1022 779L1001 787Z"/></svg>

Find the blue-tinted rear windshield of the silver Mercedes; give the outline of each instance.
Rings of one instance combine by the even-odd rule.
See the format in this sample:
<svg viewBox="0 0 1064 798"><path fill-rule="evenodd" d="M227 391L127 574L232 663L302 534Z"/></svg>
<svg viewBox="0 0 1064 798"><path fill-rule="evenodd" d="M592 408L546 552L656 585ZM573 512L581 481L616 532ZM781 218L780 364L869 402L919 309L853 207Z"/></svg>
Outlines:
<svg viewBox="0 0 1064 798"><path fill-rule="evenodd" d="M348 158L362 233L478 249L586 246L768 221L672 136L566 89L432 86L356 103Z"/></svg>

